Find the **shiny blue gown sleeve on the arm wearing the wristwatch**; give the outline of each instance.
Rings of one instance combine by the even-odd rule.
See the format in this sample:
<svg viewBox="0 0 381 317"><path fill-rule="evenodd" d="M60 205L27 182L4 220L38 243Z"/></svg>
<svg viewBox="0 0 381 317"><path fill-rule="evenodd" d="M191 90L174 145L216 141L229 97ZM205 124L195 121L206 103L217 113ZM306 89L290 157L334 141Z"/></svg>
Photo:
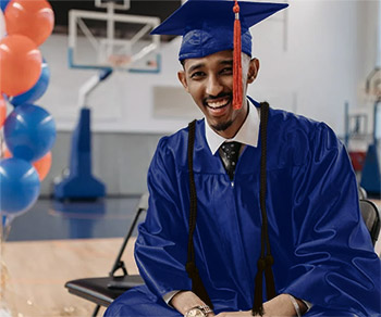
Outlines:
<svg viewBox="0 0 381 317"><path fill-rule="evenodd" d="M179 172L167 141L160 140L148 170L149 208L135 244L139 272L159 299L174 290L192 289L185 270L188 229L181 211Z"/></svg>

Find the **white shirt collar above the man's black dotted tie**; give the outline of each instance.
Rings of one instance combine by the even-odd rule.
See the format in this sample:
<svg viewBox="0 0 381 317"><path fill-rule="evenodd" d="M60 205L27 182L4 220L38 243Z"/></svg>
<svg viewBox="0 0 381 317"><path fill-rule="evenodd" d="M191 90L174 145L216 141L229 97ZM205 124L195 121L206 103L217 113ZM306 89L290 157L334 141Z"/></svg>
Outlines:
<svg viewBox="0 0 381 317"><path fill-rule="evenodd" d="M219 150L221 144L225 141L232 142L237 141L243 144L251 145L257 148L258 145L258 135L259 135L259 107L257 109L250 100L248 100L249 112L248 115L237 131L237 134L232 139L225 139L209 126L207 119L205 118L205 135L211 153L214 155Z"/></svg>

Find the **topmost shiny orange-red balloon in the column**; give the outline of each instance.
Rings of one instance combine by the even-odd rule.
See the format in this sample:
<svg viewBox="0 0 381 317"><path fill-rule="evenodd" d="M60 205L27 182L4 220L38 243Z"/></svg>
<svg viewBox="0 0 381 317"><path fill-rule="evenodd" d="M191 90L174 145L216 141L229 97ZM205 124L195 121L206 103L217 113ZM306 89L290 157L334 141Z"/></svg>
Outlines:
<svg viewBox="0 0 381 317"><path fill-rule="evenodd" d="M37 47L54 26L54 12L46 0L13 0L7 5L4 17L9 35L27 36Z"/></svg>

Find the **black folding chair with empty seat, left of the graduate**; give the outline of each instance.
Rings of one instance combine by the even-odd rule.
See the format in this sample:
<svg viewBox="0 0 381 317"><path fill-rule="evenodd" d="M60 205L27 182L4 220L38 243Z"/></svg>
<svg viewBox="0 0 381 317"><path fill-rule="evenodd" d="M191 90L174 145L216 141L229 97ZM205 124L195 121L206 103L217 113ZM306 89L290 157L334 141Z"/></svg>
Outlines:
<svg viewBox="0 0 381 317"><path fill-rule="evenodd" d="M139 275L128 275L122 255L127 245L128 239L139 220L142 213L148 207L148 193L142 195L137 205L135 218L128 229L127 236L124 238L122 246L119 251L114 265L108 277L83 278L72 280L65 283L65 288L70 293L83 297L97 304L93 316L97 316L100 306L108 307L113 300L124 293L126 290L143 284L144 281ZM116 276L118 270L122 270L123 275Z"/></svg>

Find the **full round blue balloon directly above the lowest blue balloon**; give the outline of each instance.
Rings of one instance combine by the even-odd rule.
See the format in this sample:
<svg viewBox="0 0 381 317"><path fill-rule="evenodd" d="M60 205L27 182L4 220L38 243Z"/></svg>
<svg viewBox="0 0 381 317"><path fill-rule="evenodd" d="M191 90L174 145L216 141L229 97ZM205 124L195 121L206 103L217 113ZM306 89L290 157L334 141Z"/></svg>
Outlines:
<svg viewBox="0 0 381 317"><path fill-rule="evenodd" d="M53 117L34 104L16 106L4 123L5 144L14 157L36 161L50 151L56 141Z"/></svg>

